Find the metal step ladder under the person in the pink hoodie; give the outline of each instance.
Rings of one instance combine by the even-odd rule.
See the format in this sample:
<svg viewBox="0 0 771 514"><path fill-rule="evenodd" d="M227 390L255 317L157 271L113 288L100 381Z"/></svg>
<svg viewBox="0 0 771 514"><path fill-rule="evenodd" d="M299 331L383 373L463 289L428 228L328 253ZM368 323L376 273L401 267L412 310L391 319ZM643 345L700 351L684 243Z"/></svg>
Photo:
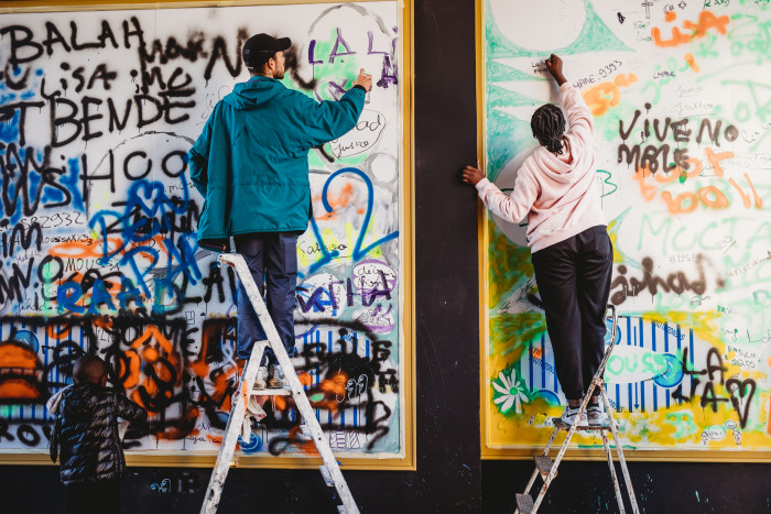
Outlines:
<svg viewBox="0 0 771 514"><path fill-rule="evenodd" d="M608 466L610 467L610 477L613 481L613 489L616 490L616 500L618 501L619 512L623 514L623 497L621 496L621 489L619 486L618 478L616 475L616 466L613 464L613 457L610 450L610 446L608 445L607 438L607 431L610 431L612 434L613 441L616 442L616 451L618 453L619 466L621 467L623 480L627 484L627 493L629 495L629 501L632 505L632 512L634 514L640 514L640 510L637 505L637 499L634 497L634 490L632 489L632 482L629 479L627 461L623 458L623 450L618 439L618 428L616 426L616 420L613 419L613 409L611 408L610 402L608 402L608 396L605 393L605 380L602 379L602 373L605 372L605 367L608 364L610 353L613 351L613 347L616 346L616 332L618 329L618 314L616 313L616 306L608 305L608 310L611 311L612 317L610 346L608 346L607 350L605 351L602 362L600 363L599 369L595 373L595 376L591 379L591 385L589 386L589 390L584 396L584 402L580 404L580 411L578 412L578 415L576 415L576 420L573 422L573 425L567 425L558 417L552 418L552 422L554 423L554 431L552 431L552 437L549 439L549 444L543 450L543 453L533 457L533 459L535 460L535 470L533 471L532 477L530 477L530 481L528 482L528 486L525 488L524 493L517 494L517 510L514 511L514 514L535 514L537 512L539 506L541 506L541 502L543 501L543 497L546 495L546 490L549 490L549 486L552 484L552 481L554 481L554 478L557 475L557 467L560 466L560 462L562 462L563 457L565 457L567 447L569 446L571 439L573 438L573 435L576 433L576 430L598 431L600 437L602 438L605 453L608 457ZM586 407L589 404L589 398L591 397L591 393L594 392L595 387L599 387L599 392L602 396L602 404L605 405L605 411L608 416L608 420L602 425L578 427L578 423L580 422L582 416L586 412ZM562 444L562 447L560 448L556 458L554 459L554 461L552 461L552 459L549 457L549 451L552 449L552 445L554 444L554 439L556 438L557 433L562 430L567 430L567 435L565 436L565 441ZM541 486L541 491L535 497L535 501L533 501L533 496L531 496L530 490L535 483L535 479L539 475L541 475L541 478L543 479L543 485Z"/></svg>

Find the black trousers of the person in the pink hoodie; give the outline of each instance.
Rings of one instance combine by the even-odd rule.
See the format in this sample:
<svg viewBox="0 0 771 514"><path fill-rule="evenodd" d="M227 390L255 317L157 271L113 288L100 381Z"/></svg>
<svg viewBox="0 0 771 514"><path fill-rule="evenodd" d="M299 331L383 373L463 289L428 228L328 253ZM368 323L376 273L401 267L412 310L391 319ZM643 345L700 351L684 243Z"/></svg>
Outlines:
<svg viewBox="0 0 771 514"><path fill-rule="evenodd" d="M565 397L579 400L605 353L605 309L613 263L607 228L593 227L539 250L532 262L560 385Z"/></svg>

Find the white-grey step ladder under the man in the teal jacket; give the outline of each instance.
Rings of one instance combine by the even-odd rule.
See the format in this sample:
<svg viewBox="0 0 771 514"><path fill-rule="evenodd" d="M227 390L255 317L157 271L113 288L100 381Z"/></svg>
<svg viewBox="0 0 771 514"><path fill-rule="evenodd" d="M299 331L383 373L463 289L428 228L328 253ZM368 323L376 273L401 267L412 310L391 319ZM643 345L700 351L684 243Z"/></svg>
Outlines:
<svg viewBox="0 0 771 514"><path fill-rule="evenodd" d="M236 271L237 276L243 284L249 299L254 307L254 311L262 324L262 328L268 336L268 340L258 341L254 343L251 351L251 358L249 358L247 368L241 374L239 390L236 392L234 397L234 403L230 408L230 418L228 419L225 436L222 437L219 453L217 455L217 462L211 471L211 478L209 480L208 489L206 490L206 496L204 496L204 505L200 508L200 513L214 514L217 512L222 488L225 486L225 479L227 478L230 466L232 464L236 442L238 441L238 436L242 430L249 400L253 396L291 395L294 398L294 403L297 406L300 414L303 416L304 425L301 425L301 428L306 436L313 438L316 449L324 461L324 464L319 466L322 477L328 486L334 486L337 490L340 501L343 502L343 505L338 505L337 510L345 514L358 514L359 508L354 502L354 496L348 489L345 478L343 478L337 460L332 452L332 448L329 448L329 442L324 437L318 419L316 419L313 407L311 407L311 402L308 402L308 398L305 395L305 390L300 383L300 379L297 379L297 373L295 373L292 361L286 353L286 349L281 342L279 332L275 330L273 320L271 319L257 284L249 272L247 262L238 253L220 254L219 262L232 266ZM262 356L268 347L273 350L273 353L279 360L279 364L284 372L284 378L289 383L289 389L253 389L254 380L257 379L257 371L260 367Z"/></svg>

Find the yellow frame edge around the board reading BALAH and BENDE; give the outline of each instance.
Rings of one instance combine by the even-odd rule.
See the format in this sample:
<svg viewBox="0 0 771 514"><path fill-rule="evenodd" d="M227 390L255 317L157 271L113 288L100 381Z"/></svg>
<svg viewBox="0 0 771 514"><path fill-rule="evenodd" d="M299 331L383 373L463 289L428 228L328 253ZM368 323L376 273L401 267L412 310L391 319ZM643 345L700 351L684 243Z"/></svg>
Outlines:
<svg viewBox="0 0 771 514"><path fill-rule="evenodd" d="M127 3L124 1L84 0L74 2L70 0L17 0L6 1L0 7L0 13L10 12L56 12L89 11L89 10L123 10L123 9L182 9L203 7L238 7L238 6L286 6L304 3L360 3L374 1L393 1L401 11L400 28L402 30L401 42L401 101L402 101L402 216L408 233L402 240L402 266L404 271L404 309L402 311L402 330L404 333L404 457L402 458L346 458L338 457L344 470L382 470L382 471L415 471L416 463L416 427L415 427L415 254L414 254L414 128L413 116L414 90L412 77L414 77L414 4L412 0L231 0L231 1L189 1L165 0L152 2L140 0ZM404 73L406 70L406 73ZM406 264L406 265L405 265ZM206 452L192 455L160 453L149 455L139 451L126 451L126 462L132 467L181 467L181 468L211 468L217 459L216 453ZM236 468L273 468L273 469L316 469L322 463L321 458L314 457L251 457L236 453L234 467ZM47 450L6 450L0 452L0 466L53 466Z"/></svg>

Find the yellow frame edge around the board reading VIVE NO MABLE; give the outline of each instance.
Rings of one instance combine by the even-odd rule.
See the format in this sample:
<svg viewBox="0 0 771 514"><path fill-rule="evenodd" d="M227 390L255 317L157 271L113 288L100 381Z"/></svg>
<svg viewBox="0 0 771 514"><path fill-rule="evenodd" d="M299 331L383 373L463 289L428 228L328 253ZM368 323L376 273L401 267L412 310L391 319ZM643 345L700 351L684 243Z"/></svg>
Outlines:
<svg viewBox="0 0 771 514"><path fill-rule="evenodd" d="M477 50L477 154L484 166L487 166L486 125L485 125L485 45L482 41L485 29L485 0L476 2L476 50ZM487 232L487 209L479 203L479 445L482 460L530 460L534 455L541 455L544 447L493 448L487 440L487 415L490 406L489 387L487 386L487 342L489 338L488 299L488 261L489 243ZM771 448L768 450L634 450L623 449L626 460L638 462L771 462ZM605 450L568 448L567 460L605 461Z"/></svg>

